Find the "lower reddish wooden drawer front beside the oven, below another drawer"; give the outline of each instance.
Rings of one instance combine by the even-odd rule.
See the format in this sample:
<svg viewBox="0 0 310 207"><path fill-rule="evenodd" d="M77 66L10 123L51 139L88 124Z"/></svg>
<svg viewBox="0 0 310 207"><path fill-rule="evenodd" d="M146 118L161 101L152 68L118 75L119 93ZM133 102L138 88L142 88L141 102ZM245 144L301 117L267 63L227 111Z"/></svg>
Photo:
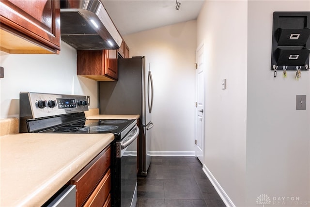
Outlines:
<svg viewBox="0 0 310 207"><path fill-rule="evenodd" d="M85 207L103 206L111 189L111 173L110 170L101 179L100 183L93 191L89 199L85 203Z"/></svg>

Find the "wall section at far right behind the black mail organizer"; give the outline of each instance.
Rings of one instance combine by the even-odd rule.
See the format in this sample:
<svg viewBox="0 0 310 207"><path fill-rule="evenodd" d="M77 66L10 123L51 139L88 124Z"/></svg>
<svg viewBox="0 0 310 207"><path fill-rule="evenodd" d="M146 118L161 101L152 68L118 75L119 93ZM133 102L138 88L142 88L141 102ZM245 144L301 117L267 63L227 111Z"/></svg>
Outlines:
<svg viewBox="0 0 310 207"><path fill-rule="evenodd" d="M273 12L310 11L310 0L248 1L247 205L260 194L310 201L310 72L270 71ZM307 110L296 111L296 95ZM290 201L280 206L305 206ZM308 203L306 206L310 206Z"/></svg>

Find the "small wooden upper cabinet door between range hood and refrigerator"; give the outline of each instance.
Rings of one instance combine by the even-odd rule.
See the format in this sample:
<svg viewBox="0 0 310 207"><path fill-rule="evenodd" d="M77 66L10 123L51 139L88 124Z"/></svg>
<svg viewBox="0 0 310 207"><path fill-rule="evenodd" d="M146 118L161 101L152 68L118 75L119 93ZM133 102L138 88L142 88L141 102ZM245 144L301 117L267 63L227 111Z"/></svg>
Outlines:
<svg viewBox="0 0 310 207"><path fill-rule="evenodd" d="M115 80L118 78L117 49L106 49L104 75Z"/></svg>

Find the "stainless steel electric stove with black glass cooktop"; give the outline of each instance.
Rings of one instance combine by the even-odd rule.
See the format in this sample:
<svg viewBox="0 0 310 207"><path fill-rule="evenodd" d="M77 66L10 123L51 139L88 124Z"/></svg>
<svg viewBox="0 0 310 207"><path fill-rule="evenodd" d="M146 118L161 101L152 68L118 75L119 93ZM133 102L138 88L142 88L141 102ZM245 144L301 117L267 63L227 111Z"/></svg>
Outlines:
<svg viewBox="0 0 310 207"><path fill-rule="evenodd" d="M135 119L86 119L86 96L21 92L21 133L113 133L111 143L111 199L113 207L137 202L137 137Z"/></svg>

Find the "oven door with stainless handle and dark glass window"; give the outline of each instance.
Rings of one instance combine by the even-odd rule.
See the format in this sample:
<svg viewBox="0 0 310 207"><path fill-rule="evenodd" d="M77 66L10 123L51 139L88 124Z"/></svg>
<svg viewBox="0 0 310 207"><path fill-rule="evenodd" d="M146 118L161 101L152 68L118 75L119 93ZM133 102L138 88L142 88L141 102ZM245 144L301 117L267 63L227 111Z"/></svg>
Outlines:
<svg viewBox="0 0 310 207"><path fill-rule="evenodd" d="M134 127L128 135L120 142L116 142L117 163L119 174L118 183L120 192L116 197L120 197L120 201L116 206L135 207L137 203L137 137L139 136L139 127ZM120 195L119 195L120 193Z"/></svg>

